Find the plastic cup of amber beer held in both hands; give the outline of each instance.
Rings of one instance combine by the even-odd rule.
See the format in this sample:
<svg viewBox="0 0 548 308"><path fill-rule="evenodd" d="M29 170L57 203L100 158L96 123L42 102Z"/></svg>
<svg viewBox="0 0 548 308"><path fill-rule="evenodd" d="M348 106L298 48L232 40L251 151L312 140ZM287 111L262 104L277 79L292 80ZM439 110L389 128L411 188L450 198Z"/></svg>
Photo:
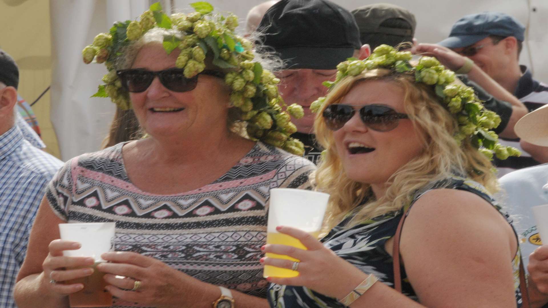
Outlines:
<svg viewBox="0 0 548 308"><path fill-rule="evenodd" d="M110 307L112 295L105 290L105 273L96 270L99 263L105 262L101 254L114 249L115 223L59 224L61 239L82 244L77 250L64 250L66 256L88 256L95 259L93 274L67 281L67 284L82 283L84 288L68 295L71 307Z"/></svg>

